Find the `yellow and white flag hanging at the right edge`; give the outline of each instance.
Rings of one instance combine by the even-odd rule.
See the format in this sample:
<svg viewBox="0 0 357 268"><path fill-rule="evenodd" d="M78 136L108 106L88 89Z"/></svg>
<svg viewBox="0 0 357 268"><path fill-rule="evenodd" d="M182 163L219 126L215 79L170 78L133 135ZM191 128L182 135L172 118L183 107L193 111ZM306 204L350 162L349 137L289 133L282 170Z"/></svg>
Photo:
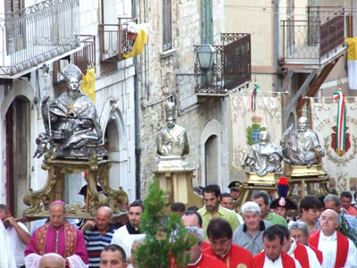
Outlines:
<svg viewBox="0 0 357 268"><path fill-rule="evenodd" d="M347 43L348 87L357 89L357 38L345 38Z"/></svg>

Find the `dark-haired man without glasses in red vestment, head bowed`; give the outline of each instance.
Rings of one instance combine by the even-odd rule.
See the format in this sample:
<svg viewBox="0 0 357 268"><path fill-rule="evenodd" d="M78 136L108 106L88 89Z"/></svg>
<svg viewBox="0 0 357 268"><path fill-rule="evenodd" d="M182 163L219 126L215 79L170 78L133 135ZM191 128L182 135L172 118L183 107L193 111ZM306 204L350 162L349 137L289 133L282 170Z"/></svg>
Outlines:
<svg viewBox="0 0 357 268"><path fill-rule="evenodd" d="M264 251L254 255L257 268L301 268L299 262L283 251L284 234L272 225L262 234Z"/></svg>

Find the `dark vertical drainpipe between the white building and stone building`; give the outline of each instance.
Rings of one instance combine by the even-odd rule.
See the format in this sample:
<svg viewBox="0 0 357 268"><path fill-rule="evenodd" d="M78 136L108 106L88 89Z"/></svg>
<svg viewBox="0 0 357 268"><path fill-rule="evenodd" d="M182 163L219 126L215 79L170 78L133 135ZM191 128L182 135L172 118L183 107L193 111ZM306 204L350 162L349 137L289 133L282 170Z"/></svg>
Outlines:
<svg viewBox="0 0 357 268"><path fill-rule="evenodd" d="M137 17L137 2L131 1L132 17ZM135 113L135 196L136 199L141 198L140 188L140 174L141 174L141 144L140 144L140 110L139 110L139 83L137 78L137 71L139 65L137 64L137 57L133 58L135 65L134 75L134 113Z"/></svg>

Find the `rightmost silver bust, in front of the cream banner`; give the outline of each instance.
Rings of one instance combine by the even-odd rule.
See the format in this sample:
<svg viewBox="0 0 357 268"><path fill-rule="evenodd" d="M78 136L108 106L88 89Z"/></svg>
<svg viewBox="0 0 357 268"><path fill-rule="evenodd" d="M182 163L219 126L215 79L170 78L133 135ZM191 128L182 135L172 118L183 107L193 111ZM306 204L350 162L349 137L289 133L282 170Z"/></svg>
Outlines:
<svg viewBox="0 0 357 268"><path fill-rule="evenodd" d="M295 165L311 165L320 163L325 155L320 146L318 135L307 128L307 118L300 117L297 123L298 129L293 130L291 125L283 134L280 141L284 161Z"/></svg>

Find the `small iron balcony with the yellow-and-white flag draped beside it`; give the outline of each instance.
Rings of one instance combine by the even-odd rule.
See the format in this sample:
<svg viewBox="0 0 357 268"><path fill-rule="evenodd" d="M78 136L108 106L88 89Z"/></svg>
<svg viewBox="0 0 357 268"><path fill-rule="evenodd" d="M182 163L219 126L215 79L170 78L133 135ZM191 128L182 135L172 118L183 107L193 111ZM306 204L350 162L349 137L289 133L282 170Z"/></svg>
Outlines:
<svg viewBox="0 0 357 268"><path fill-rule="evenodd" d="M123 22L124 21L124 22ZM129 39L128 22L133 18L119 18L118 24L99 24L99 57L101 62L119 62L124 60L133 48L134 41Z"/></svg>

